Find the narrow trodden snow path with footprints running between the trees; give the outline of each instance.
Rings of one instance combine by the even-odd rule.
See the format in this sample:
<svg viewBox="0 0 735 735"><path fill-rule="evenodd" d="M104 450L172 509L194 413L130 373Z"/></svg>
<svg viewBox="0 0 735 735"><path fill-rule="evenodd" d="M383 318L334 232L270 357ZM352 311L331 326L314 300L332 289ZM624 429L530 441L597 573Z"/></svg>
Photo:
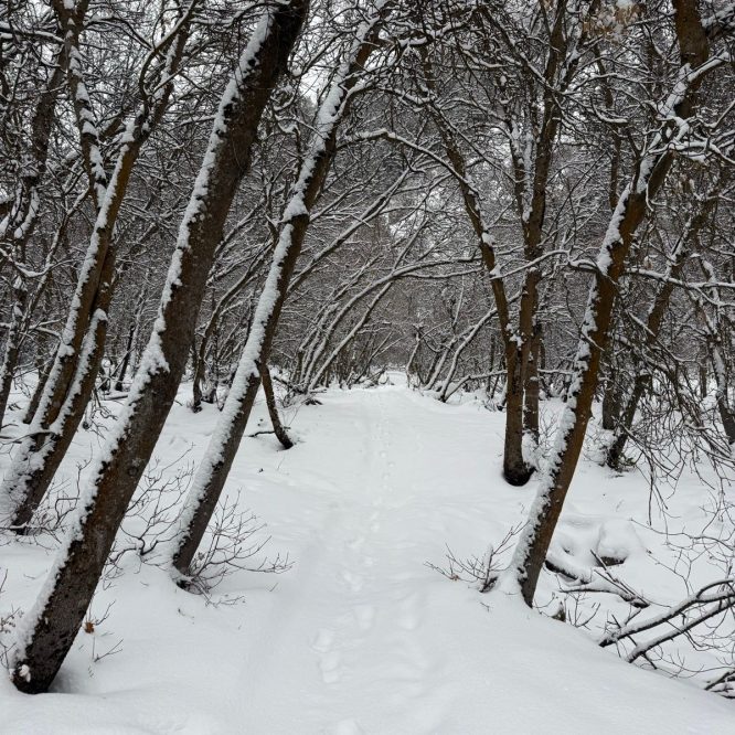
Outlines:
<svg viewBox="0 0 735 735"><path fill-rule="evenodd" d="M271 620L254 657L267 667L252 672L264 699L280 690L306 701L291 701L283 723L268 710L267 725L256 732L288 732L297 712L313 723L303 732L319 732L321 721L324 732L360 733L355 702L395 732L430 732L443 706L436 688L427 686L441 673L441 660L419 632L426 604L419 583L430 574L426 541L441 524L416 522L432 515L422 490L437 482L440 436L426 441L417 432L414 412L401 411L403 393L360 398L341 456L322 455L334 496L318 539L298 561L306 594L285 619Z"/></svg>

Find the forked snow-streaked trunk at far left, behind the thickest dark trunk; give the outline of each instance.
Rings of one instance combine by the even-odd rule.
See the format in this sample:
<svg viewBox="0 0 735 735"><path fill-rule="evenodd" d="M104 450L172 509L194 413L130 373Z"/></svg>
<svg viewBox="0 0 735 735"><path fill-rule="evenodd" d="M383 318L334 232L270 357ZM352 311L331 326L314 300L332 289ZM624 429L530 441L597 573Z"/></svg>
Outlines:
<svg viewBox="0 0 735 735"><path fill-rule="evenodd" d="M150 103L138 110L127 126L122 146L109 182L102 166L99 131L94 125L89 97L84 85L82 62L73 29L81 20L57 3L62 25L67 31L70 87L77 109L77 125L83 158L89 175L97 219L81 268L61 344L44 384L39 407L28 437L20 444L0 488L8 499L11 525L23 533L34 510L46 493L56 469L82 422L95 386L107 337L107 312L114 294L117 216L125 199L130 175L142 145L150 137L166 110L173 90L172 77L187 42L189 15L169 34L169 51L160 72L160 85ZM70 40L71 39L71 40Z"/></svg>

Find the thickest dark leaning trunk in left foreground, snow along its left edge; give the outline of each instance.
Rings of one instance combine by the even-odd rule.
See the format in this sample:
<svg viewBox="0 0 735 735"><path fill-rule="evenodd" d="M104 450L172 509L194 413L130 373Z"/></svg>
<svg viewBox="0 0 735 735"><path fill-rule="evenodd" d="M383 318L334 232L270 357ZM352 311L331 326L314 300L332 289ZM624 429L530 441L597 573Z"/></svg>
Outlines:
<svg viewBox="0 0 735 735"><path fill-rule="evenodd" d="M258 122L299 35L308 0L268 9L224 92L179 230L159 316L134 385L68 535L18 630L12 680L46 691L79 630L126 508L173 404L222 228Z"/></svg>

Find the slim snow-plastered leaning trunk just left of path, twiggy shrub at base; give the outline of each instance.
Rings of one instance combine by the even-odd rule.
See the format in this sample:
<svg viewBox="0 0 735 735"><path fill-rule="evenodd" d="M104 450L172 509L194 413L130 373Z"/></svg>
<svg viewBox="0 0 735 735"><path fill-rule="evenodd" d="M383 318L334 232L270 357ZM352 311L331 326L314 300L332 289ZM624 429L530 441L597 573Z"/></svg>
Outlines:
<svg viewBox="0 0 735 735"><path fill-rule="evenodd" d="M184 501L179 530L171 542L174 568L188 575L196 548L206 531L224 488L230 468L245 433L260 384L260 365L268 360L288 284L309 226L309 214L318 201L337 149L337 131L344 118L352 89L364 74L364 64L375 49L375 33L384 2L361 23L348 58L332 79L317 111L315 140L305 157L298 179L281 217L273 263L258 299L255 317L227 394L222 417Z"/></svg>

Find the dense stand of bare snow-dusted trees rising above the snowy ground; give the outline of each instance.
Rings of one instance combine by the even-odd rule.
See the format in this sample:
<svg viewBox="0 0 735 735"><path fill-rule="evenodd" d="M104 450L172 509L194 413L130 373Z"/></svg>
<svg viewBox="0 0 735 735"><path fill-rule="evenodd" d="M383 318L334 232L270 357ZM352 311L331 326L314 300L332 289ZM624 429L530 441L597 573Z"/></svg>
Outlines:
<svg viewBox="0 0 735 735"><path fill-rule="evenodd" d="M9 536L65 539L18 624L17 686L58 670L182 380L193 412L222 408L155 534L182 585L262 382L284 446L274 381L316 401L401 370L503 411L504 477L539 472L539 496L502 574L462 568L529 605L544 565L592 584L547 552L593 406L610 468L724 481L734 35L724 0L6 3L0 511ZM545 397L566 404L553 444ZM106 449L50 520L109 400ZM732 589L725 565L654 622L727 615Z"/></svg>

